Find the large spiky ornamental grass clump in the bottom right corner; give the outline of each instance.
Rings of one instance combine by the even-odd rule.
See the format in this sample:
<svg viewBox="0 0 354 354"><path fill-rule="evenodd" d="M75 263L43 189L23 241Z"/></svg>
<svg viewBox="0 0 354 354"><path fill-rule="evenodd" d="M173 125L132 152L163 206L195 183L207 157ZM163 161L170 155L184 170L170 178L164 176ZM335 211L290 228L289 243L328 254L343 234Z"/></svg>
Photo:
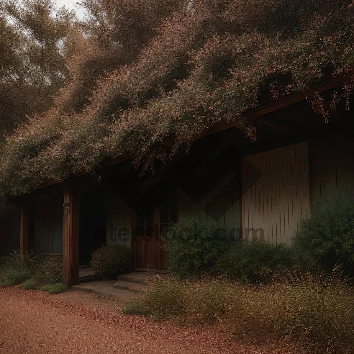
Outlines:
<svg viewBox="0 0 354 354"><path fill-rule="evenodd" d="M269 321L278 337L293 338L318 353L354 352L354 287L337 269L327 277L288 272L271 291Z"/></svg>

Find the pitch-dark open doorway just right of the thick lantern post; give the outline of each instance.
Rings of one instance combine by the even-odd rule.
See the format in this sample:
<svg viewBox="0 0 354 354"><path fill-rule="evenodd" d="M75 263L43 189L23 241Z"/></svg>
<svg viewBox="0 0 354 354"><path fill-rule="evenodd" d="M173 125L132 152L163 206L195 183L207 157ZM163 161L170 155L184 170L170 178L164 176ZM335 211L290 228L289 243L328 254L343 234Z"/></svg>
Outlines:
<svg viewBox="0 0 354 354"><path fill-rule="evenodd" d="M92 252L106 244L105 192L97 190L80 200L80 265L89 264Z"/></svg>

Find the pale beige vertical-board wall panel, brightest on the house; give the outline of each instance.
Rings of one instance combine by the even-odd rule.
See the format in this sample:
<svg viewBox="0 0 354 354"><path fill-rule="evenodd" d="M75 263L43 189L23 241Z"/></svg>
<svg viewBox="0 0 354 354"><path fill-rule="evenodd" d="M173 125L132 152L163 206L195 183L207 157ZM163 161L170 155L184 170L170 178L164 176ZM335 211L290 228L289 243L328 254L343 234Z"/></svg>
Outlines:
<svg viewBox="0 0 354 354"><path fill-rule="evenodd" d="M307 143L247 156L241 170L244 238L289 245L310 209Z"/></svg>

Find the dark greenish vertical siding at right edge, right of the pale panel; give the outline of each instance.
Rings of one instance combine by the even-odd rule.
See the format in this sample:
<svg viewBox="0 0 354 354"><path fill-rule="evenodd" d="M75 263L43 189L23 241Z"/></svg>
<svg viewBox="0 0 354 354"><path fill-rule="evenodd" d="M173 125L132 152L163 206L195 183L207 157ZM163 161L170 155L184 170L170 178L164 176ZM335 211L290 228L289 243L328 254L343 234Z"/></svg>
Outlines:
<svg viewBox="0 0 354 354"><path fill-rule="evenodd" d="M334 199L354 203L354 141L346 137L317 139L309 143L313 204Z"/></svg>

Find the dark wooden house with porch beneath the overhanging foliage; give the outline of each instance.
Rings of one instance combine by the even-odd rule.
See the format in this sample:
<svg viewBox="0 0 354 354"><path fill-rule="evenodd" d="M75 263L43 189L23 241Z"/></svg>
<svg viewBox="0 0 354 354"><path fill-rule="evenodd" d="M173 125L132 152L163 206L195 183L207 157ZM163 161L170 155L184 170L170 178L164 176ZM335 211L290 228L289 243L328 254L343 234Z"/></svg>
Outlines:
<svg viewBox="0 0 354 354"><path fill-rule="evenodd" d="M326 79L246 113L257 127L250 142L233 122L195 137L155 173L139 177L131 155L103 161L13 200L21 208L20 248L63 258L63 281L75 284L92 250L120 244L132 269L166 272L161 230L178 218L205 218L236 240L289 245L298 219L332 199L354 201L353 120L340 102L326 124L307 97L350 80Z"/></svg>

